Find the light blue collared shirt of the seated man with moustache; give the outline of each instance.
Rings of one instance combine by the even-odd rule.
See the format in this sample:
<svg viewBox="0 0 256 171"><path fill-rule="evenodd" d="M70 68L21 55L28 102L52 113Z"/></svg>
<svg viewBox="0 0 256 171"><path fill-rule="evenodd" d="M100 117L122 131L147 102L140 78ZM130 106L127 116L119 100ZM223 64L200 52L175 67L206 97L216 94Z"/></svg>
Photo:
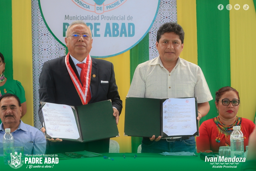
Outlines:
<svg viewBox="0 0 256 171"><path fill-rule="evenodd" d="M5 130L3 123L0 124L0 156L3 156L3 136ZM42 154L46 150L46 139L44 134L30 125L24 124L20 120L18 129L12 132L14 137L14 146L24 147L25 154Z"/></svg>

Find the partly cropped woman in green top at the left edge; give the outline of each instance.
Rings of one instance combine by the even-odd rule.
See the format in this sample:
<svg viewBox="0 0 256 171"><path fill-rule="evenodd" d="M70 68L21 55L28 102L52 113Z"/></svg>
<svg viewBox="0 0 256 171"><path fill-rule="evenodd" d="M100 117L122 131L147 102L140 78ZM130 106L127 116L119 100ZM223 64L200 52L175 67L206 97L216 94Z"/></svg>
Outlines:
<svg viewBox="0 0 256 171"><path fill-rule="evenodd" d="M0 52L0 97L6 93L15 94L20 99L22 113L21 117L27 112L25 91L19 81L5 77L5 58ZM1 123L1 120L0 120Z"/></svg>

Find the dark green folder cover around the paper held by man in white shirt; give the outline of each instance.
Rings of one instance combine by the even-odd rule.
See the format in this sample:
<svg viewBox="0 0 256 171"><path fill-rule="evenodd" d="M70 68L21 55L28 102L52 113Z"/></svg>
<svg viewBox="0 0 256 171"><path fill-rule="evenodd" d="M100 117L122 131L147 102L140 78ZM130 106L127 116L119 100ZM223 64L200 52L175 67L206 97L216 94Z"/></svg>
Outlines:
<svg viewBox="0 0 256 171"><path fill-rule="evenodd" d="M191 97L184 97L191 98ZM195 115L197 113L197 97L195 98ZM135 137L189 137L199 136L198 120L195 118L197 132L193 135L168 136L163 132L163 103L166 99L126 97L124 136Z"/></svg>

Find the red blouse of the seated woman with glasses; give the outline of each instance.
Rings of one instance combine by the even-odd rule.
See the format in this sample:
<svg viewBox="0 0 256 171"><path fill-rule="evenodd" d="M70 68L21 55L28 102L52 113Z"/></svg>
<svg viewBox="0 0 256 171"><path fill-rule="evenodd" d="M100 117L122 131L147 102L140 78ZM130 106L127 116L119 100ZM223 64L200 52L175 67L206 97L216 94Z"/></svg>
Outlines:
<svg viewBox="0 0 256 171"><path fill-rule="evenodd" d="M248 145L249 135L252 133L255 124L249 119L242 118L241 127L243 129L243 133L245 133L244 139L244 150L246 150L246 146ZM216 142L216 137L218 136L216 124L213 119L208 119L204 121L199 127L199 137L196 139L197 150L212 150L213 152L218 153L220 146L225 146L225 135L221 134L220 143ZM228 135L228 139L230 139L230 135ZM228 141L230 146L230 141Z"/></svg>

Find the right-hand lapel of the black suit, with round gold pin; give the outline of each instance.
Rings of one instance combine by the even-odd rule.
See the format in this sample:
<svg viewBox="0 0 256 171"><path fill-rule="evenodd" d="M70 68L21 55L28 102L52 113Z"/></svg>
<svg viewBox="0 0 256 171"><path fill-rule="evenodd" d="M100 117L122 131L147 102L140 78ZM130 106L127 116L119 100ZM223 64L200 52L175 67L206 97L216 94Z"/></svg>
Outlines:
<svg viewBox="0 0 256 171"><path fill-rule="evenodd" d="M92 99L89 101L89 103L92 103L94 99L97 97L97 91L98 91L98 71L99 69L96 67L97 63L92 58L92 74L91 74L91 82L90 82L90 88L91 88L91 94L92 94ZM95 75L95 77L93 77Z"/></svg>

